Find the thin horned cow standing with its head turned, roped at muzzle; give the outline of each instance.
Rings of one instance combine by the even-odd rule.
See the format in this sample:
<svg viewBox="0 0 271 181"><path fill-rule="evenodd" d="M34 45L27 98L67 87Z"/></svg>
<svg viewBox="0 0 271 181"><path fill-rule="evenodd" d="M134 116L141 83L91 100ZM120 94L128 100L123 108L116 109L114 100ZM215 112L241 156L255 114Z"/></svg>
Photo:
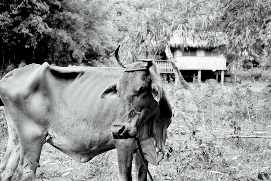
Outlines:
<svg viewBox="0 0 271 181"><path fill-rule="evenodd" d="M16 169L21 180L35 180L31 166L39 163L46 142L80 163L116 148L121 181L132 180L134 138L141 142L146 163L159 164L166 152L170 102L157 64L126 64L119 47L114 53L122 67L52 67L45 62L2 78L0 105L8 124L8 146L0 181L11 180ZM136 180L146 180L138 154L135 164Z"/></svg>

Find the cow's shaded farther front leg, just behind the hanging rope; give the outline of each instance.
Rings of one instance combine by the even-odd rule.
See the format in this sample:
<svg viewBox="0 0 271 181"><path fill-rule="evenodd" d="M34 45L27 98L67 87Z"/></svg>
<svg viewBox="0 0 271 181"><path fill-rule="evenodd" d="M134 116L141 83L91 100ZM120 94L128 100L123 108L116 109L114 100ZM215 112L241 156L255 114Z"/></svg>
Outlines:
<svg viewBox="0 0 271 181"><path fill-rule="evenodd" d="M148 161L145 158L144 158L144 160L148 166ZM147 171L145 169L145 166L144 166L138 152L135 154L135 164L136 164L136 181L146 181L147 180Z"/></svg>

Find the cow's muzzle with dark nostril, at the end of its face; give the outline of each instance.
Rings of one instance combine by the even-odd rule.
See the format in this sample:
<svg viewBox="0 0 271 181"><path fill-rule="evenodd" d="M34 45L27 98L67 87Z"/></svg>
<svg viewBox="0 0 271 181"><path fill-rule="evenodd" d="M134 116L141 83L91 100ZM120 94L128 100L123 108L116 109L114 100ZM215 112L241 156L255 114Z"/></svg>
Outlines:
<svg viewBox="0 0 271 181"><path fill-rule="evenodd" d="M111 132L114 139L136 138L137 131L128 123L113 124Z"/></svg>

